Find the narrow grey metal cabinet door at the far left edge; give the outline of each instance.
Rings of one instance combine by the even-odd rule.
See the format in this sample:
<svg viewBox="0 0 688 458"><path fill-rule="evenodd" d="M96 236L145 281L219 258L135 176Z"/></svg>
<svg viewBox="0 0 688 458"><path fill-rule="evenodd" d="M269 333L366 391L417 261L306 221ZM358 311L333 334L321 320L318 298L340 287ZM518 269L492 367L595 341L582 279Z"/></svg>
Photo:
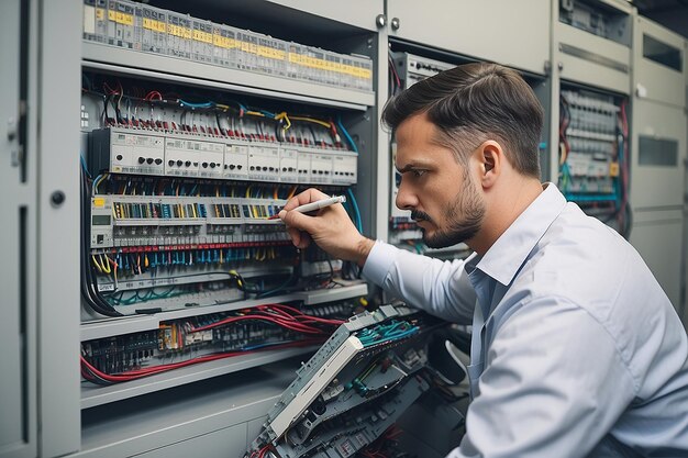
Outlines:
<svg viewBox="0 0 688 458"><path fill-rule="evenodd" d="M0 253L2 319L0 319L0 457L35 456L35 329L29 299L29 246L33 233L30 211L33 193L26 187L20 119L22 77L22 7L0 2ZM24 10L25 13L25 10ZM24 37L25 41L25 37Z"/></svg>

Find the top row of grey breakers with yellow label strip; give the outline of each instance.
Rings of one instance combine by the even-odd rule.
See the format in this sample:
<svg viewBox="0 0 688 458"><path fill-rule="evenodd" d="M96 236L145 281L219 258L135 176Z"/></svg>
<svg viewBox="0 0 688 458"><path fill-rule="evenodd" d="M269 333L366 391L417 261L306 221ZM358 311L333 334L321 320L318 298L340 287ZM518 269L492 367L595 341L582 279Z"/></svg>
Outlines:
<svg viewBox="0 0 688 458"><path fill-rule="evenodd" d="M84 38L224 68L373 91L373 60L129 0L85 0Z"/></svg>

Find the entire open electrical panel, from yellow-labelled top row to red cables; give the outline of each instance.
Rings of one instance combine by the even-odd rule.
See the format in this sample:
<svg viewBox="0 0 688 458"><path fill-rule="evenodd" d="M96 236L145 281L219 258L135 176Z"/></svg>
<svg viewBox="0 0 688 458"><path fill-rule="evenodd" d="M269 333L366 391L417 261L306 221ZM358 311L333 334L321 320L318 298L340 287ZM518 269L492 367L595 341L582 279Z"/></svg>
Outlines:
<svg viewBox="0 0 688 458"><path fill-rule="evenodd" d="M277 217L317 187L364 230L368 42L342 54L318 31L307 45L158 7L84 1L81 406L106 417L310 354L375 308L358 266L297 249Z"/></svg>

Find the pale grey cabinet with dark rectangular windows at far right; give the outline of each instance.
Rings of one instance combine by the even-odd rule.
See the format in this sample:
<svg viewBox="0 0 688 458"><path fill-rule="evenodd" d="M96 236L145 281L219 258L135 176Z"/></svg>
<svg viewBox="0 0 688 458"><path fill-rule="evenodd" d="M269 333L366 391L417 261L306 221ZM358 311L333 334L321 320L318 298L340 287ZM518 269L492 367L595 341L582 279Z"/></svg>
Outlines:
<svg viewBox="0 0 688 458"><path fill-rule="evenodd" d="M680 36L647 19L635 20L631 243L679 313L685 301L685 59Z"/></svg>

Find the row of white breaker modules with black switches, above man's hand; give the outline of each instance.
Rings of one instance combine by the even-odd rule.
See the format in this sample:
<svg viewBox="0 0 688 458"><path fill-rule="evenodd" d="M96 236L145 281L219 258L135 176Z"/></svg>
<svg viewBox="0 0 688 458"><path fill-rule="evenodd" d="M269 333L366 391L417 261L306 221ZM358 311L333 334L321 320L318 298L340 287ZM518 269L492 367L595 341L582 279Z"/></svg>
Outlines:
<svg viewBox="0 0 688 458"><path fill-rule="evenodd" d="M114 174L301 185L356 183L357 155L274 142L108 127L91 134L90 164Z"/></svg>

